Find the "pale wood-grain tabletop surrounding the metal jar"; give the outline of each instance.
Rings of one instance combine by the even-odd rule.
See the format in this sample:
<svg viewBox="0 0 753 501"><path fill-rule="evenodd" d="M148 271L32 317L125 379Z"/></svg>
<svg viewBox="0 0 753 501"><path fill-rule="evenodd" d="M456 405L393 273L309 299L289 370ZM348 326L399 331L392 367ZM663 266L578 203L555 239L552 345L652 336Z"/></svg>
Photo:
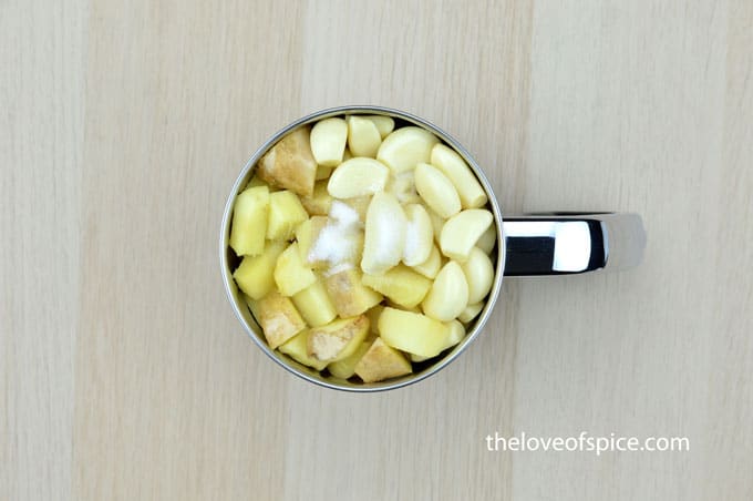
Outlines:
<svg viewBox="0 0 753 501"><path fill-rule="evenodd" d="M753 2L0 1L0 499L753 499ZM643 215L644 264L507 280L413 387L257 349L217 237L305 113L434 121L507 214ZM683 436L690 452L487 452Z"/></svg>

